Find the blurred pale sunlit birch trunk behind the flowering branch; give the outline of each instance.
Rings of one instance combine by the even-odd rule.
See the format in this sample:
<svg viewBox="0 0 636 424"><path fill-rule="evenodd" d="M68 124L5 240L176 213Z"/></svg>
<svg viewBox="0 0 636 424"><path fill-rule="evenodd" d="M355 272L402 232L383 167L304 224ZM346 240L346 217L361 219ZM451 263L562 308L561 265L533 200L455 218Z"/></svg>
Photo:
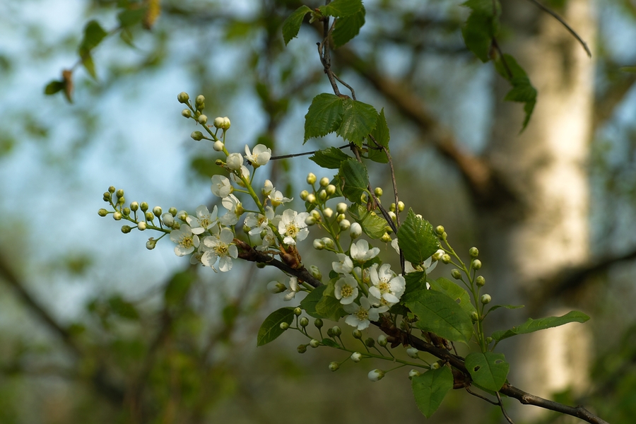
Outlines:
<svg viewBox="0 0 636 424"><path fill-rule="evenodd" d="M503 22L513 28L514 38L500 44L524 66L538 101L521 135L522 107L497 102L488 158L512 196L478 208L486 268L493 270L485 288L497 291L495 303L525 303L521 313L533 318L560 315L577 307L573 299L536 294L561 270L589 260L586 166L593 61L563 25L531 2L506 4L504 11ZM569 0L559 13L584 40L594 40L589 0ZM510 87L499 81L497 97L502 98ZM507 324L519 324L526 316ZM517 343L508 354L512 384L539 396L587 385L591 345L584 326L569 324L519 337Z"/></svg>

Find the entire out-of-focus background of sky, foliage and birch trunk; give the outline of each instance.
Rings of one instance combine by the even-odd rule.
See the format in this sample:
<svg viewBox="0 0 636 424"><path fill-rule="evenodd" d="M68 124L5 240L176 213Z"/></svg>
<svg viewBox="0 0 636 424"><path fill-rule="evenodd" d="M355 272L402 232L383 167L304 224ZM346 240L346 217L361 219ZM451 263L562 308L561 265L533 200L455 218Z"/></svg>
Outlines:
<svg viewBox="0 0 636 424"><path fill-rule="evenodd" d="M526 305L493 317L492 329L563 307L591 315L585 329L506 346L511 382L630 423L636 4L544 1L587 42L590 59L530 1L504 3L498 41L539 92L523 134L522 105L502 101L507 83L464 45L461 1L365 1L365 26L334 52L334 69L359 100L384 108L407 206L444 225L458 252L480 248L496 303ZM311 99L331 89L313 25L305 20L283 45L281 24L300 2L164 0L151 30L117 30L118 13L149 4L0 4L0 423L424 420L405 370L376 383L367 372L389 366L329 372L341 353L299 355L298 334L256 348L264 317L288 305L266 290L280 274L253 264L235 263L231 275L192 268L169 240L148 251L152 234L124 235L98 216L111 185L164 210L218 202L209 189L218 153L190 139L181 91L204 94L209 117L230 117L233 151L341 144L302 145ZM93 52L97 78L78 64L92 19L113 30ZM71 68L73 102L45 95ZM301 157L260 177L298 197L308 171L332 176ZM391 192L384 167L371 177ZM326 275L332 259L310 252L312 239L303 259ZM438 266L434 276L449 271ZM570 422L514 402L506 405L516 423ZM501 419L456 391L430 422Z"/></svg>

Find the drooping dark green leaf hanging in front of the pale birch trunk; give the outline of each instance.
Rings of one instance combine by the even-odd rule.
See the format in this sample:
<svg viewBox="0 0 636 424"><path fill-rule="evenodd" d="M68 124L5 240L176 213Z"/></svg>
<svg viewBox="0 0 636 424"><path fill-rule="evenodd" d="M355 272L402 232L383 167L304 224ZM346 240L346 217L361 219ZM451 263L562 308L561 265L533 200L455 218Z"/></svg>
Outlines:
<svg viewBox="0 0 636 424"><path fill-rule="evenodd" d="M512 89L506 94L504 100L524 103L526 117L524 118L520 131L523 132L528 122L530 122L534 105L536 105L536 88L532 86L526 71L519 66L517 61L514 57L510 56L510 54L504 54L503 57L497 58L495 61L495 69L500 76L512 84Z"/></svg>

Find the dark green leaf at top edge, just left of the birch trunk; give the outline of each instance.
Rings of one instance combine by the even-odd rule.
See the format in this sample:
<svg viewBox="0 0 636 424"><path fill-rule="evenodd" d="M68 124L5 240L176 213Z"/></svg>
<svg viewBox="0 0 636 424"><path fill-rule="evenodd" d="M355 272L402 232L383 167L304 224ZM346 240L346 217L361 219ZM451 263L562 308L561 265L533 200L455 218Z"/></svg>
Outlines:
<svg viewBox="0 0 636 424"><path fill-rule="evenodd" d="M497 0L469 0L462 6L472 9L461 28L464 43L483 62L490 59L490 44L499 33L501 5Z"/></svg>

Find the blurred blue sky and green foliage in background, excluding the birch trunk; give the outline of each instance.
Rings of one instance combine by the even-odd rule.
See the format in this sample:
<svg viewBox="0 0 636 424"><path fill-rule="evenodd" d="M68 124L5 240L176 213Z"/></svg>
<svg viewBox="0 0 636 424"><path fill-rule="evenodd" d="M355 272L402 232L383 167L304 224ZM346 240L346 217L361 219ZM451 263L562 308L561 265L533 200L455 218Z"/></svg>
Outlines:
<svg viewBox="0 0 636 424"><path fill-rule="evenodd" d="M334 54L334 67L360 100L384 107L406 204L443 224L454 247L465 251L479 233L469 188L425 126L379 86L396 83L420 99L459 148L484 151L501 100L492 66L461 40L467 10L460 3L366 1L367 22ZM515 7L512 1L504 7L509 3ZM566 3L546 1L556 10ZM192 126L176 101L180 91L204 94L208 116L230 117L237 151L246 143L264 143L276 155L339 143L326 138L302 146L307 106L330 88L315 51L317 31L305 25L299 40L283 47L281 24L300 4L0 5L1 423L424 419L405 375L367 381L368 370L381 364L347 364L331 373L329 361L343 358L326 349L299 355L295 346L304 340L296 335L257 349L262 319L283 305L265 288L280 275L252 264L235 263L230 275L193 268L174 256L170 242L147 252L149 235L119 234L96 214L110 185L126 189L129 201L166 210L217 202L208 189L216 153L189 139ZM119 28L148 7L160 11L156 20L143 15ZM598 0L594 14L589 225L595 257L611 257L587 276L595 293L588 303L596 334L593 384L582 396L565 391L558 399L586 404L608 422L629 423L636 413L636 73L622 67L636 63L636 4ZM91 51L94 77L78 56L90 20L109 33ZM514 28L503 34L514 38ZM44 95L49 81L64 83L64 69L73 70L72 103L62 93ZM308 171L324 176L305 158L268 168L267 177L288 196L305 189ZM386 170L373 168L372 175L373 184L390 191ZM303 259L323 273L329 269L329 261L320 264L311 253ZM454 392L430 421L500 419L497 408ZM551 415L541 420L563 422Z"/></svg>

